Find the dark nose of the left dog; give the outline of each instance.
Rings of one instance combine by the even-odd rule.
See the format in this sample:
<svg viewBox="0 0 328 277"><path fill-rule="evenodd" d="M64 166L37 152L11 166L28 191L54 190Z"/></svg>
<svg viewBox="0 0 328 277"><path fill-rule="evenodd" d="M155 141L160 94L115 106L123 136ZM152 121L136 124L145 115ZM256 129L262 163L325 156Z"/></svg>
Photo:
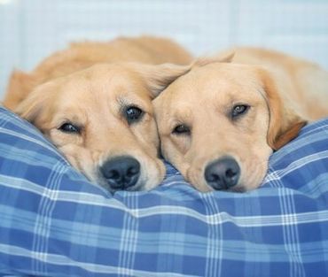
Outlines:
<svg viewBox="0 0 328 277"><path fill-rule="evenodd" d="M112 189L124 190L136 185L140 176L140 164L136 158L121 156L107 160L100 172Z"/></svg>

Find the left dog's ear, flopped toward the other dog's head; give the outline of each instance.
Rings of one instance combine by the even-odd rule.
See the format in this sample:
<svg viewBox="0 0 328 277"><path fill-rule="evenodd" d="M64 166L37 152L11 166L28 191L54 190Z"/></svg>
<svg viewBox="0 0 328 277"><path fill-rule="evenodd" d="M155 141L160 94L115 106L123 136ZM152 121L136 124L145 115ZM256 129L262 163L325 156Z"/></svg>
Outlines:
<svg viewBox="0 0 328 277"><path fill-rule="evenodd" d="M143 65L140 70L151 91L152 98L155 98L173 81L185 73L188 73L191 67L192 65L174 64Z"/></svg>

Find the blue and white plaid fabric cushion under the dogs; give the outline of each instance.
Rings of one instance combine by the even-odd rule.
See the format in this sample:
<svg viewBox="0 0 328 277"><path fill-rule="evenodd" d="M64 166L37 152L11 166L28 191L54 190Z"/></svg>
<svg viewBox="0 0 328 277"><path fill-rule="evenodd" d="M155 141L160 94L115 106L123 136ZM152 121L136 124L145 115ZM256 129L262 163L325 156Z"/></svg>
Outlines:
<svg viewBox="0 0 328 277"><path fill-rule="evenodd" d="M1 275L327 276L328 119L252 192L202 194L167 167L159 188L111 196L0 108Z"/></svg>

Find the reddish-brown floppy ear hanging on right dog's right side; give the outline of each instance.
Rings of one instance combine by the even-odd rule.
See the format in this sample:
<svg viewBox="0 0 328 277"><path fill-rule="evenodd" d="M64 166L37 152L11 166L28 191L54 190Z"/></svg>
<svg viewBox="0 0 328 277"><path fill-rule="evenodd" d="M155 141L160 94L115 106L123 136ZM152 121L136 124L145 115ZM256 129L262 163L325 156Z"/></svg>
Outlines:
<svg viewBox="0 0 328 277"><path fill-rule="evenodd" d="M265 98L269 108L268 144L273 150L278 150L287 142L299 135L301 127L307 120L293 111L277 91L277 85L269 77L269 73L260 70Z"/></svg>

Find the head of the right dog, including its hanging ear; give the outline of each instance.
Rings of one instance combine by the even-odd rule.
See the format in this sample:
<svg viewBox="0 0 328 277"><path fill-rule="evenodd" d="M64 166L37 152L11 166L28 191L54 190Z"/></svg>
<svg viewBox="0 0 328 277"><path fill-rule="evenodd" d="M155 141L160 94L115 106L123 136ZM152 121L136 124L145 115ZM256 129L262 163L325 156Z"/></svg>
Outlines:
<svg viewBox="0 0 328 277"><path fill-rule="evenodd" d="M280 93L259 67L196 66L153 101L164 158L201 191L257 188L305 124Z"/></svg>

